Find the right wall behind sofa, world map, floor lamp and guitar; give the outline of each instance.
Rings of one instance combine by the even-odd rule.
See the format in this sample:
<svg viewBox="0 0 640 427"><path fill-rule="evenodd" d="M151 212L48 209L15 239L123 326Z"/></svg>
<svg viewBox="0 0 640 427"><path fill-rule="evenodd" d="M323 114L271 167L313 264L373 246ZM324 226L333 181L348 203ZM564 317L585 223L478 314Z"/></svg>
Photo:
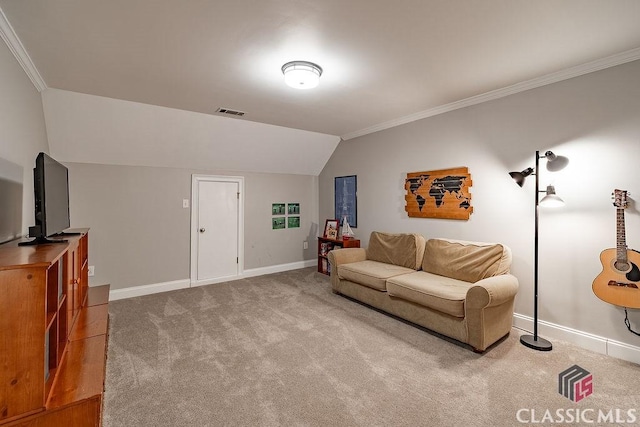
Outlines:
<svg viewBox="0 0 640 427"><path fill-rule="evenodd" d="M373 230L505 243L521 285L516 312L532 316L534 177L519 188L507 173L533 166L536 150L570 159L540 172L566 202L540 214L541 320L640 346L622 309L591 290L600 252L616 243L611 192L640 200L640 61L341 142L320 175L320 220L333 217L334 177L358 175L364 244ZM458 166L473 179L470 220L408 218L406 174ZM626 211L627 243L638 249L639 209ZM640 310L629 317L640 330Z"/></svg>

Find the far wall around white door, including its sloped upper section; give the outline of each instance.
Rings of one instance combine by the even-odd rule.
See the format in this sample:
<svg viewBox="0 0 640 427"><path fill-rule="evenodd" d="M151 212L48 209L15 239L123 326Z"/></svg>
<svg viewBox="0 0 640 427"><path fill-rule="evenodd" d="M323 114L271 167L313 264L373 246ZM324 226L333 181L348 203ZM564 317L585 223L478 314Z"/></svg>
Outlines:
<svg viewBox="0 0 640 427"><path fill-rule="evenodd" d="M91 284L189 279L192 174L245 177L245 270L313 259L303 241L313 248L317 174L337 137L57 89L43 105L71 225L91 228ZM299 229L271 229L276 202L301 204Z"/></svg>

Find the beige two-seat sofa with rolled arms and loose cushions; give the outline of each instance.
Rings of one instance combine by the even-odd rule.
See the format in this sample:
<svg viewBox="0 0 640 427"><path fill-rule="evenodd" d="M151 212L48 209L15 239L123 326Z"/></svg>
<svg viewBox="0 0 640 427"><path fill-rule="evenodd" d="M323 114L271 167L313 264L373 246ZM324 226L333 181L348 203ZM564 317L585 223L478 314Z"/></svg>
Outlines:
<svg viewBox="0 0 640 427"><path fill-rule="evenodd" d="M342 294L482 352L507 335L518 279L496 243L371 233L368 248L329 252Z"/></svg>

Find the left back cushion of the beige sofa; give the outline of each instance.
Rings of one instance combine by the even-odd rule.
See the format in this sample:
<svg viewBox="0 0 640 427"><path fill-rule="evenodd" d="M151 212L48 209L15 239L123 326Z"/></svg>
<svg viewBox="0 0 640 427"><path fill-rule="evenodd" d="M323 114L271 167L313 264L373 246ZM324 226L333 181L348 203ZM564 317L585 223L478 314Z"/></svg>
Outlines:
<svg viewBox="0 0 640 427"><path fill-rule="evenodd" d="M369 238L367 259L418 270L424 258L425 243L420 234L374 231Z"/></svg>

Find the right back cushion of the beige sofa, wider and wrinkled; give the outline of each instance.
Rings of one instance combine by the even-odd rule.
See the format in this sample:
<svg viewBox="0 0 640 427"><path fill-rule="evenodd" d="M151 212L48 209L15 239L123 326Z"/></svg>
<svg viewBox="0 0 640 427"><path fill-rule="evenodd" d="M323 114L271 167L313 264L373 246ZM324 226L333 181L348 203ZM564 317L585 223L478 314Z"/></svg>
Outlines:
<svg viewBox="0 0 640 427"><path fill-rule="evenodd" d="M428 273L475 283L506 274L511 267L511 250L499 243L429 239L422 269Z"/></svg>

